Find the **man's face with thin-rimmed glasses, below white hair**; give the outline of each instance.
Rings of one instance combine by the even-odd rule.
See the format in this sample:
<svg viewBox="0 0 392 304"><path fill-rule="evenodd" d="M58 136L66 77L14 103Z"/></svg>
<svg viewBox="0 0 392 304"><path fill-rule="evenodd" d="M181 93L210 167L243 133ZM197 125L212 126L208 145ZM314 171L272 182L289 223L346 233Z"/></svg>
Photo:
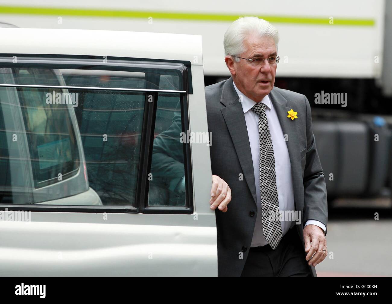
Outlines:
<svg viewBox="0 0 392 304"><path fill-rule="evenodd" d="M244 41L244 46L246 51L238 55L243 58L277 56L275 42L272 38L249 36ZM249 60L240 59L240 62L233 60L230 62L227 57L230 56L226 56L225 61L234 83L241 92L256 102L269 94L274 87L277 65L270 65L268 60L264 60L260 65L253 66Z"/></svg>

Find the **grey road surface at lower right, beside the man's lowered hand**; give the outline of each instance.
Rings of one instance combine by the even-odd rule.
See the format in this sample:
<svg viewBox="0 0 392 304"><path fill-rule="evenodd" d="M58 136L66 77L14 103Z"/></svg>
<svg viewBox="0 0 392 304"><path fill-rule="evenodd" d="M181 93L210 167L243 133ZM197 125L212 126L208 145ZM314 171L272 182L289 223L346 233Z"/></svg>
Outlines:
<svg viewBox="0 0 392 304"><path fill-rule="evenodd" d="M316 266L318 277L392 277L390 210L333 210L326 239L328 256Z"/></svg>

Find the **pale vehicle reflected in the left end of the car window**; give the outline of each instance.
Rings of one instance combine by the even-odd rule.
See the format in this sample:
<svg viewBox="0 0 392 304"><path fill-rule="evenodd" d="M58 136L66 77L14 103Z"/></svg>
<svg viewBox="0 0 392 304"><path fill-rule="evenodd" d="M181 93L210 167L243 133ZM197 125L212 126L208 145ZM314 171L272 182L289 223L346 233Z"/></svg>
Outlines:
<svg viewBox="0 0 392 304"><path fill-rule="evenodd" d="M0 81L35 85L40 79L37 72L0 69ZM53 75L49 69L39 73ZM64 93L38 87L0 88L0 203L78 204L80 200L68 198L91 192L93 199L86 204L100 204L80 170L81 144L72 105L47 103L47 96Z"/></svg>

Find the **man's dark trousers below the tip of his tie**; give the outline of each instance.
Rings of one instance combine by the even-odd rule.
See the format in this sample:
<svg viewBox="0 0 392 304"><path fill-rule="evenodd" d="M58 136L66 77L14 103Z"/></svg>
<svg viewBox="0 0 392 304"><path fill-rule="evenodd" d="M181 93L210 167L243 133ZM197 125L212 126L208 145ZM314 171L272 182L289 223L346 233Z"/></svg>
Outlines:
<svg viewBox="0 0 392 304"><path fill-rule="evenodd" d="M272 250L269 244L251 247L241 277L312 277L295 226Z"/></svg>

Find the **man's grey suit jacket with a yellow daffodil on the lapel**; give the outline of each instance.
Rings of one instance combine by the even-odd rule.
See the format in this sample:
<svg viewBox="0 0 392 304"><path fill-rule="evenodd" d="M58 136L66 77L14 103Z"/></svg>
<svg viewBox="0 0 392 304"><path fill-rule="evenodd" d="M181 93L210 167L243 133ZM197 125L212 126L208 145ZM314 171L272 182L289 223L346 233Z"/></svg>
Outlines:
<svg viewBox="0 0 392 304"><path fill-rule="evenodd" d="M312 131L312 118L307 98L289 90L274 87L270 100L278 114L283 134L287 134L296 210L301 210L301 224L295 225L303 241L303 225L309 219L327 226L327 190L323 169ZM243 270L256 223L256 185L252 154L242 105L232 78L205 87L209 132L214 142L210 147L212 174L221 177L232 190L228 211L216 210L218 233L218 276L239 277ZM287 111L298 112L298 118L287 118ZM243 180L239 174L243 174ZM255 215L250 216L250 211ZM241 259L241 253L243 258ZM316 277L316 269L310 266Z"/></svg>

